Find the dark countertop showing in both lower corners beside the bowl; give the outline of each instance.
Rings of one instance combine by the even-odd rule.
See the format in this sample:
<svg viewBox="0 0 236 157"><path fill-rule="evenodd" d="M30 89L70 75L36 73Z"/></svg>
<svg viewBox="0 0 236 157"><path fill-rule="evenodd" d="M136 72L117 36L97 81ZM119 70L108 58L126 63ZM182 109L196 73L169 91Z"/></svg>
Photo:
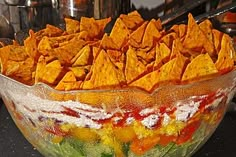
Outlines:
<svg viewBox="0 0 236 157"><path fill-rule="evenodd" d="M236 157L236 111L227 112L215 133L193 157ZM0 157L42 157L23 137L0 100Z"/></svg>

